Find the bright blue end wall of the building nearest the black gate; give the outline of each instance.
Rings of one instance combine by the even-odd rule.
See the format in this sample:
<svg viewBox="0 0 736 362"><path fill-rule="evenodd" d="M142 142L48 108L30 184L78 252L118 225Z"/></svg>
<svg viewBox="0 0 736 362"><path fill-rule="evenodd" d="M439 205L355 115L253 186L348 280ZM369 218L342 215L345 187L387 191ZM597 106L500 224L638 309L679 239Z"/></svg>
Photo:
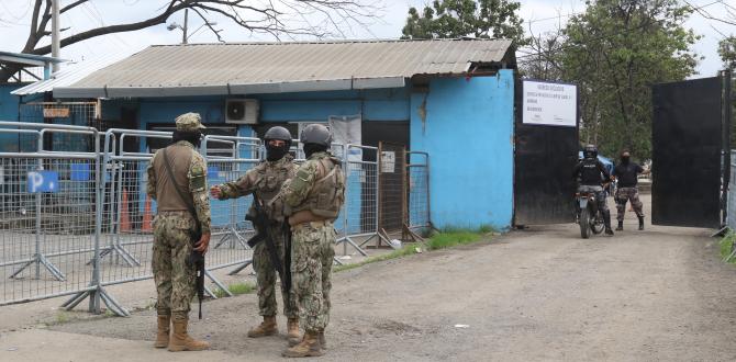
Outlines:
<svg viewBox="0 0 736 362"><path fill-rule="evenodd" d="M435 226L511 226L513 100L512 70L434 79L411 95L411 148L430 152Z"/></svg>

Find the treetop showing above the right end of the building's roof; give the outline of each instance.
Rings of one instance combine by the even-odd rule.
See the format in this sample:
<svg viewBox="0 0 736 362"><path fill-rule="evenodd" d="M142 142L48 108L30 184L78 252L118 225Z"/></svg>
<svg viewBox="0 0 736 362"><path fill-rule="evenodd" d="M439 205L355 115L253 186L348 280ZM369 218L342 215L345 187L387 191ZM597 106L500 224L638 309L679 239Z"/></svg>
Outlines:
<svg viewBox="0 0 736 362"><path fill-rule="evenodd" d="M510 38L523 46L527 39L518 8L518 2L509 0L435 0L421 15L416 8L409 9L402 38Z"/></svg>

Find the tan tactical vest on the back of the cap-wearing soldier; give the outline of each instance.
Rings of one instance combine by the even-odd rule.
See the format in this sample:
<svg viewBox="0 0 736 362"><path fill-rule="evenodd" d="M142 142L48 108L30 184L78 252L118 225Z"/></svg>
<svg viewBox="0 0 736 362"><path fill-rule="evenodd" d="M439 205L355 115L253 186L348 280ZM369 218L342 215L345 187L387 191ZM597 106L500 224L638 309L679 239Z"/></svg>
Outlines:
<svg viewBox="0 0 736 362"><path fill-rule="evenodd" d="M179 190L189 194L189 167L191 166L191 159L193 157L194 150L187 146L177 146L172 145L165 149L166 155L171 161L171 171L174 171L174 178L176 180L169 179L169 174L166 171L166 160L164 160L164 155L159 155L164 149L156 151L156 157L154 158L154 171L156 172L156 210L159 212L163 211L187 211L187 204L181 200L179 193L174 188L174 182L179 186Z"/></svg>

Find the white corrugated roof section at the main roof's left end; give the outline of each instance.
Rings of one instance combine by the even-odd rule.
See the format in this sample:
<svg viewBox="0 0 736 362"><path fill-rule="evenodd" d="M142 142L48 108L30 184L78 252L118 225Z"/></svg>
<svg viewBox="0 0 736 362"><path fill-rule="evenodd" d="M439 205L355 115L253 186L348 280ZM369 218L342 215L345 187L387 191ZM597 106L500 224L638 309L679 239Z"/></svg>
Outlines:
<svg viewBox="0 0 736 362"><path fill-rule="evenodd" d="M130 55L130 53L107 54L93 59L71 63L62 68L62 70L52 75L52 78L33 82L10 93L15 95L27 95L51 92L58 87L69 87L91 75L92 72L100 70L113 63L120 61Z"/></svg>

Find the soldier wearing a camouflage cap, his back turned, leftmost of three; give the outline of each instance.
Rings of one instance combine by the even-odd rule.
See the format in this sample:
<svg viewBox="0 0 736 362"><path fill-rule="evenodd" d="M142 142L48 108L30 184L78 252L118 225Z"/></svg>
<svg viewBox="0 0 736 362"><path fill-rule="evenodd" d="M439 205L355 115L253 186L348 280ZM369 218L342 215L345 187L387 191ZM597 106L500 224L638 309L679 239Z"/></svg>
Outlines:
<svg viewBox="0 0 736 362"><path fill-rule="evenodd" d="M207 252L210 244L207 165L204 158L196 150L203 128L200 115L197 113L177 117L171 145L156 151L146 170L148 174L146 192L157 204L152 261L158 294L156 302L158 333L154 346L168 347L172 352L198 351L210 347L210 343L194 340L187 333L197 275L194 265L189 264L187 259L192 249ZM175 180L169 178L161 155L164 151L169 159ZM191 200L182 200L175 183L183 193L191 195ZM189 212L187 203L193 204L197 219ZM200 224L202 236L199 240L192 240L194 223ZM174 332L170 332L171 325Z"/></svg>

